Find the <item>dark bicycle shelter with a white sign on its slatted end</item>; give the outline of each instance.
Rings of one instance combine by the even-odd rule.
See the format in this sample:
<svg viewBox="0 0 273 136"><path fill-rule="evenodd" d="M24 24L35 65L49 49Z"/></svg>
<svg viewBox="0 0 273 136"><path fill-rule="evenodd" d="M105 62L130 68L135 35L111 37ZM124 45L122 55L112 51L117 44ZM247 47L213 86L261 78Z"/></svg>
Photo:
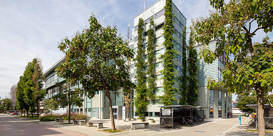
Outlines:
<svg viewBox="0 0 273 136"><path fill-rule="evenodd" d="M193 109L201 109L208 107L203 106L192 106L192 105L172 105L172 106L158 106L160 108L160 127L161 126L174 126L174 123L177 123L177 119L180 117L188 117L193 120ZM162 109L163 108L163 109ZM203 112L198 111L199 116L203 116L204 119L204 110ZM203 114L203 115L201 115Z"/></svg>

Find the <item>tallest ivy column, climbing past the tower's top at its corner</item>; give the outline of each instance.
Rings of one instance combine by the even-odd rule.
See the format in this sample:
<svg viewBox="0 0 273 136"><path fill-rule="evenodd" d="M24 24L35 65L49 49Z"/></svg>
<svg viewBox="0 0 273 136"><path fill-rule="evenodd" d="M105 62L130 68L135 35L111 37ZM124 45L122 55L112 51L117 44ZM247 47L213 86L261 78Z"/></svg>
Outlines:
<svg viewBox="0 0 273 136"><path fill-rule="evenodd" d="M161 71L161 73L164 75L163 77L163 88L164 88L164 95L160 96L161 103L165 106L172 105L176 98L174 97L174 54L176 54L176 51L174 50L174 44L173 44L173 28L174 28L174 21L172 20L173 14L172 14L172 0L166 0L166 5L164 6L165 9L165 23L164 23L164 38L165 41L163 45L166 48L166 52L161 55L161 59L163 59L163 67L164 69Z"/></svg>

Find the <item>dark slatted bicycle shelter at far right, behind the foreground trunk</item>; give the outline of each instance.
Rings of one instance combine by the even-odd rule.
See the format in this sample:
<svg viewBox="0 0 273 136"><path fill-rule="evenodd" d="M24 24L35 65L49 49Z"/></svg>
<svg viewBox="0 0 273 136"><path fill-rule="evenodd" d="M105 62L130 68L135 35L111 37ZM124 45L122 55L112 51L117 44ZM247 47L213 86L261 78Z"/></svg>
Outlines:
<svg viewBox="0 0 273 136"><path fill-rule="evenodd" d="M256 128L258 128L258 122L257 122L257 104L248 104L245 105L250 108L256 109ZM258 113L259 114L259 113ZM264 127L266 129L273 129L273 107L270 106L270 104L264 104Z"/></svg>

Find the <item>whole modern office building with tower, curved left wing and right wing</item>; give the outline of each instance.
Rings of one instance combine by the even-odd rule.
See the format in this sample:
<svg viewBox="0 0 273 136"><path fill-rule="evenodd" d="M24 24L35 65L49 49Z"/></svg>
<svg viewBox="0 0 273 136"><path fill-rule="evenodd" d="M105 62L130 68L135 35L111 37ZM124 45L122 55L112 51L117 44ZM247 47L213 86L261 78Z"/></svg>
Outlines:
<svg viewBox="0 0 273 136"><path fill-rule="evenodd" d="M166 1L165 0L158 0L153 5L145 9L143 12L139 13L136 17L134 17L134 29L124 37L124 41L128 42L129 48L134 48L134 52L136 53L137 50L137 29L138 29L138 21L139 18L142 18L145 22L144 31L146 32L148 30L148 27L150 25L150 17L153 17L154 19L154 27L155 30L155 37L156 37L156 48L155 48L155 56L156 56L156 64L155 64L155 71L156 71L156 88L154 94L156 96L161 96L164 94L162 83L163 80L161 77L163 76L160 71L163 69L162 66L162 60L158 59L158 57L161 54L164 54L166 49L163 46L164 37L163 37L163 26L165 22L165 16L164 16L164 6ZM177 70L175 77L179 77L182 75L182 30L184 27L186 27L186 18L185 16L178 10L178 8L175 6L175 4L172 5L174 14L174 49L177 51L177 56L175 56L174 60L174 68ZM147 36L145 37L147 41ZM199 52L202 49L203 46L196 45L196 50ZM216 48L215 41L212 41L209 44L209 48L214 50ZM145 48L146 50L146 48ZM134 58L136 57L136 54ZM145 57L147 61L147 57ZM65 79L58 77L56 74L56 67L63 63L65 61L65 57L60 59L56 64L54 64L50 69L48 69L43 74L43 80L45 81L45 89L46 89L46 98L49 99L52 98L59 90L60 88L56 86L56 82L60 84L65 84ZM134 66L134 61L128 60L128 65L131 68L131 80L132 82L136 83L136 78L134 77L134 74L136 73L136 67ZM204 114L207 115L206 119L218 119L224 118L226 113L228 111L231 111L231 96L228 96L226 94L226 91L224 91L221 88L215 88L214 90L208 90L207 88L207 81L209 77L221 80L221 69L225 65L224 62L220 60L215 60L212 64L205 64L202 59L199 59L198 67L199 72L196 76L196 79L199 82L199 89L198 94L199 98L196 102L197 106L204 106L209 107L207 109L204 109ZM181 69L181 70L180 70ZM71 85L71 88L81 88L82 85L80 81L78 81L75 85ZM173 86L174 88L179 88L179 82L175 83ZM131 107L130 107L130 113L129 118L136 119L138 116L134 112L134 95L135 92L131 93ZM71 111L74 113L79 114L87 114L89 117L95 118L95 119L107 119L110 118L109 116L109 103L107 97L104 95L103 91L97 92L96 95L93 98L88 98L87 94L79 94L80 97L82 97L85 101L83 102L82 107L72 106ZM180 99L178 95L175 96L177 99ZM121 106L125 106L122 95L120 93L119 96L111 95L112 98L112 105L113 105L113 112L114 112L114 118L115 119L121 119ZM217 100L218 101L214 101ZM230 101L230 102L229 102ZM176 103L174 103L176 104ZM145 116L146 119L153 118L155 121L159 120L159 111L160 108L158 106L163 106L160 104L160 100L156 99L153 101L149 101L149 104L147 108L145 109Z"/></svg>

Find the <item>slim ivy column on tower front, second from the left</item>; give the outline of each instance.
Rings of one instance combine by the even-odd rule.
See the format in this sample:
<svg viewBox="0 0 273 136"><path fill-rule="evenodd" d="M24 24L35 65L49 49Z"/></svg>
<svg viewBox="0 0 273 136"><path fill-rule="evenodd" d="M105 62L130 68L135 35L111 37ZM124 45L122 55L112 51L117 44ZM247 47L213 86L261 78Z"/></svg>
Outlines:
<svg viewBox="0 0 273 136"><path fill-rule="evenodd" d="M149 29L147 31L148 33L148 43L147 43L147 82L148 82L148 87L147 87L147 98L150 100L155 99L154 95L154 90L155 90L155 30L153 29L154 27L154 21L153 17L150 18L150 25Z"/></svg>

